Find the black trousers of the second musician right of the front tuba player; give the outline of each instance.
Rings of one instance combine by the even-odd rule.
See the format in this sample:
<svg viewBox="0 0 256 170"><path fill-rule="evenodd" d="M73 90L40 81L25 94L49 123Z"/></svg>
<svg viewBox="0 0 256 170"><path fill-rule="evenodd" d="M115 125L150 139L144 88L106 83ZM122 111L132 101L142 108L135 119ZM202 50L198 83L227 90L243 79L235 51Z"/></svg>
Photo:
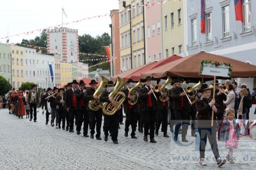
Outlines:
<svg viewBox="0 0 256 170"><path fill-rule="evenodd" d="M152 108L148 108L148 112L143 112L144 119L144 135L148 135L148 130L150 130L150 139L154 139L154 130L156 122L156 111Z"/></svg>

